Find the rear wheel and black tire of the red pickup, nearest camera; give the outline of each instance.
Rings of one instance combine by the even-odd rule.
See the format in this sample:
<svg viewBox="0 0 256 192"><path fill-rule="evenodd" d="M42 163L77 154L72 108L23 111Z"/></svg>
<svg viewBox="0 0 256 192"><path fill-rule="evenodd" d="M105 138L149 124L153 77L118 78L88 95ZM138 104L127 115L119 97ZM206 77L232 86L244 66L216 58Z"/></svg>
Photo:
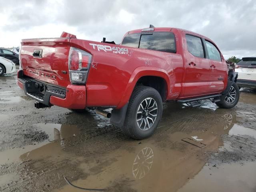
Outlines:
<svg viewBox="0 0 256 192"><path fill-rule="evenodd" d="M153 110L155 108L157 109ZM162 98L158 91L152 87L136 86L129 100L124 125L121 129L126 135L134 139L147 138L154 134L162 118L162 112ZM137 123L140 115L141 120Z"/></svg>

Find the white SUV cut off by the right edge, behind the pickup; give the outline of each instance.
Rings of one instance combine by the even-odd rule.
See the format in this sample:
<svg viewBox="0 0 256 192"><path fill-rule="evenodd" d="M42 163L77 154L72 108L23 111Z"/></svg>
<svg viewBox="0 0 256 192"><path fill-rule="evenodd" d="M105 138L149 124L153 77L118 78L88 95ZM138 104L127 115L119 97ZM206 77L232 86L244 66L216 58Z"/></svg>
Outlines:
<svg viewBox="0 0 256 192"><path fill-rule="evenodd" d="M256 57L244 57L235 66L238 87L256 88Z"/></svg>

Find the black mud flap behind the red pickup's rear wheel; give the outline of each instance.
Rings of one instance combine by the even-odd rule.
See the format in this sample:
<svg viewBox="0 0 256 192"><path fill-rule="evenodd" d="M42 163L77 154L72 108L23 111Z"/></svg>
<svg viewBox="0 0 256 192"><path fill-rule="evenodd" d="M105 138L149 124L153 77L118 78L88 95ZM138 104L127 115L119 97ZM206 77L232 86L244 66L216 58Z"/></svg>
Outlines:
<svg viewBox="0 0 256 192"><path fill-rule="evenodd" d="M111 112L110 123L114 126L122 127L124 125L127 108L128 103L120 109L113 109Z"/></svg>

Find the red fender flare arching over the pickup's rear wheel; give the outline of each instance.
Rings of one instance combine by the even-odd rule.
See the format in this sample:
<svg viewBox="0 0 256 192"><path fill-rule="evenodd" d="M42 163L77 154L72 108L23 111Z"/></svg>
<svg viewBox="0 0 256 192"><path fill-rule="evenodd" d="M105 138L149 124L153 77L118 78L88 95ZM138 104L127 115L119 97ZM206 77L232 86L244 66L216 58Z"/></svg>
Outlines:
<svg viewBox="0 0 256 192"><path fill-rule="evenodd" d="M130 80L128 81L128 84L126 86L122 99L117 106L117 109L122 108L129 101L136 83L143 76L156 76L163 78L167 85L167 94L170 92L170 79L166 70L157 67L140 66L132 72Z"/></svg>

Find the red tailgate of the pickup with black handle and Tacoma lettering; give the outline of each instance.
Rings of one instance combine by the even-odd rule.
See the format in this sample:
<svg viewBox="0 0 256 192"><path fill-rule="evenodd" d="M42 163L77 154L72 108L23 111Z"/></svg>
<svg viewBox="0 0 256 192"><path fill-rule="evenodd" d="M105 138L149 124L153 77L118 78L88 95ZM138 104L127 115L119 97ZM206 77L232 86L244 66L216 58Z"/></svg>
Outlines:
<svg viewBox="0 0 256 192"><path fill-rule="evenodd" d="M67 87L70 38L24 39L20 60L26 76Z"/></svg>

